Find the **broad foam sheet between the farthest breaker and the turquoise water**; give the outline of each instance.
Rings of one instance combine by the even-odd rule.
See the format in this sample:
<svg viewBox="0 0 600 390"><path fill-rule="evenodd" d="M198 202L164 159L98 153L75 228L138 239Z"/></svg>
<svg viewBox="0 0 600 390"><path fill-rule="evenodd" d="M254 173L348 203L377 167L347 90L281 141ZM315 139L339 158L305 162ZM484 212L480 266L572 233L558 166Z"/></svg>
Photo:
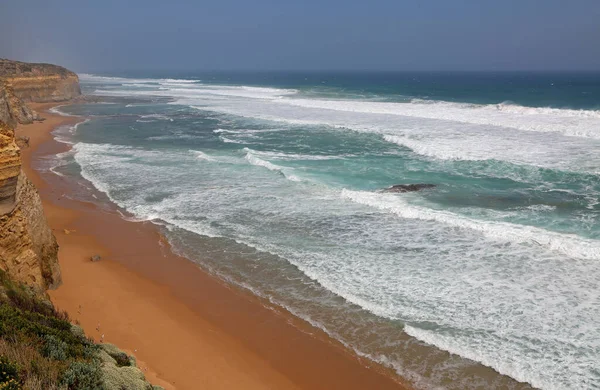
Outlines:
<svg viewBox="0 0 600 390"><path fill-rule="evenodd" d="M340 131L348 129L360 132L381 134L389 142L406 146L418 154L443 160L498 160L519 165L534 165L537 167L569 170L573 172L599 173L600 155L594 152L592 145L600 148L600 140L594 137L585 138L566 136L566 133L576 132L577 128L593 132L600 130L600 120L595 118L553 117L544 121L529 115L526 121L532 121L544 129L552 126L563 127L561 131L523 131L524 126L510 126L519 123L517 116L508 118L507 125L499 121L486 124L477 120L463 122L452 120L450 117L429 118L427 115L401 116L393 114L373 113L368 109L344 111L314 107L295 106L298 99L228 99L225 101L203 99L203 106L195 106L200 100L182 99L181 104L190 104L202 110L240 115L272 121L283 121L293 125L328 125ZM361 104L369 102L350 102L360 108ZM348 104L350 104L348 103ZM346 104L332 102L331 104ZM378 103L379 104L379 103ZM411 103L381 103L410 106ZM423 105L428 110L435 111L435 104ZM424 108L423 108L424 109ZM464 109L468 111L469 109ZM463 113L464 114L464 113ZM513 114L505 113L511 116ZM429 116L434 116L429 115ZM487 116L484 116L487 118ZM512 121L512 122L511 122ZM587 121L587 122L586 122ZM590 122L591 121L591 122ZM596 122L597 123L596 123ZM593 122L593 123L592 123ZM491 122L490 122L491 123ZM600 134L600 133L599 133ZM600 138L600 136L599 136Z"/></svg>

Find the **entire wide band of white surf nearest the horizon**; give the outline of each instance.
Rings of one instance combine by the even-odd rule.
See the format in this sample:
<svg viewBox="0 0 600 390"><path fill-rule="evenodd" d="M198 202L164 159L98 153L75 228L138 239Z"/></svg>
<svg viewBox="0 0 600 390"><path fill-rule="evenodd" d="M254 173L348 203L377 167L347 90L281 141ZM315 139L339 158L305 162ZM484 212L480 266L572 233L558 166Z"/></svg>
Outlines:
<svg viewBox="0 0 600 390"><path fill-rule="evenodd" d="M599 172L600 156L592 152L589 144L597 143L600 147L600 117L594 110L517 109L510 104L485 106L419 100L385 103L306 99L296 98L293 95L297 91L287 89L198 84L155 91L124 88L102 93L158 95L201 110L378 133L390 142L431 158L495 159ZM238 130L227 132L234 134L234 131Z"/></svg>

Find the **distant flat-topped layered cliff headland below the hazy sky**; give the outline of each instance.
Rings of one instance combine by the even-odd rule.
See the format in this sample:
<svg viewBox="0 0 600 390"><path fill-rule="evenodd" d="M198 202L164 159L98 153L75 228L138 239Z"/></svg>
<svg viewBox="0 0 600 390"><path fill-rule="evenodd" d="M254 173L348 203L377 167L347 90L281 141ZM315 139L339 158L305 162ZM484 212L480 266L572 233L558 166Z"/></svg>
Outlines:
<svg viewBox="0 0 600 390"><path fill-rule="evenodd" d="M60 102L81 95L79 77L57 65L0 59L0 78L25 102Z"/></svg>

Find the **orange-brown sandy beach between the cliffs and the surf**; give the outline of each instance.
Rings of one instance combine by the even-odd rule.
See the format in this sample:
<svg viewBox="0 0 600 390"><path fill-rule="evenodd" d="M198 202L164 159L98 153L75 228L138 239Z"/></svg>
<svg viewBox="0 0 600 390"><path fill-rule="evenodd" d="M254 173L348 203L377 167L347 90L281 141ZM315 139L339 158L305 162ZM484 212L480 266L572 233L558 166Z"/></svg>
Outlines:
<svg viewBox="0 0 600 390"><path fill-rule="evenodd" d="M50 296L89 336L134 354L167 389L407 388L392 370L175 255L152 223L73 200L68 181L35 171L40 156L69 149L51 131L82 120L47 112L57 105L32 105L46 121L17 134L30 137L23 168L60 246L63 285ZM91 262L96 254L102 260Z"/></svg>

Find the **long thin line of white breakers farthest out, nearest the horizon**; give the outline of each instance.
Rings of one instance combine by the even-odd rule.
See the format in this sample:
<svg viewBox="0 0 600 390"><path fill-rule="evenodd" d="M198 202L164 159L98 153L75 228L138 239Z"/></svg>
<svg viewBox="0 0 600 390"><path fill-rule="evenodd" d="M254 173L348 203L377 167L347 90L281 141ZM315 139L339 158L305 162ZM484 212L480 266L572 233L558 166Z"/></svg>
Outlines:
<svg viewBox="0 0 600 390"><path fill-rule="evenodd" d="M140 79L98 78L85 80L118 83L139 83ZM143 80L143 79L142 79ZM150 80L146 80L148 82ZM160 91L99 91L116 95L162 95L182 99L182 104L193 105L193 99L204 100L211 95L271 100L277 105L296 106L307 109L325 109L338 112L368 115L393 115L426 119L455 121L461 123L510 127L534 132L558 132L567 136L600 139L600 111L570 110L558 108L524 107L510 103L466 104L413 99L409 103L373 102L361 100L324 100L290 98L298 93L293 89L200 85L194 80L154 79L164 84ZM178 88L178 87L184 88Z"/></svg>

